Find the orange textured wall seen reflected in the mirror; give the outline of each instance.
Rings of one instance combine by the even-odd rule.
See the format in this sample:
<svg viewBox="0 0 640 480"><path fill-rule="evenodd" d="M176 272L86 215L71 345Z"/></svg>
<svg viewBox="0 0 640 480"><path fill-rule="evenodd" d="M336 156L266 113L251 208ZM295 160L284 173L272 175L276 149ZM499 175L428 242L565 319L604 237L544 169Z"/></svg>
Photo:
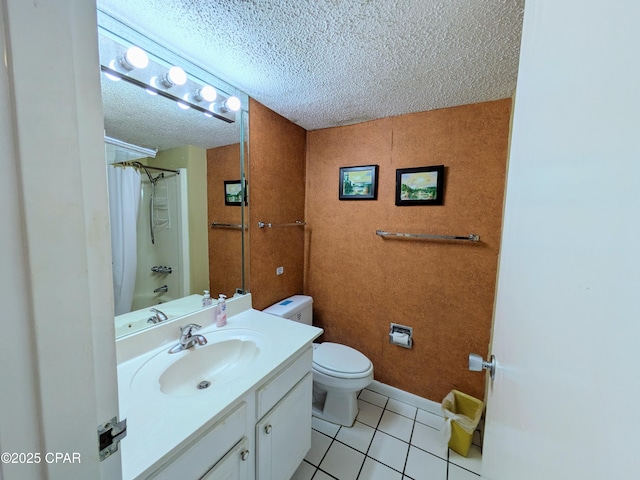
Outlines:
<svg viewBox="0 0 640 480"><path fill-rule="evenodd" d="M207 150L209 289L215 299L242 286L242 230L211 228L213 222L241 223L241 208L225 205L224 181L240 180L240 144Z"/></svg>

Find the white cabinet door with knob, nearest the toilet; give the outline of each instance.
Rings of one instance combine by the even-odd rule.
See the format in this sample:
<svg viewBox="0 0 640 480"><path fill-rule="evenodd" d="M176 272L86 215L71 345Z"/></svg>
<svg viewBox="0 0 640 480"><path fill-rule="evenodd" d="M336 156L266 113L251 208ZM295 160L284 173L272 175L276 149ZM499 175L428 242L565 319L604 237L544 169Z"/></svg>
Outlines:
<svg viewBox="0 0 640 480"><path fill-rule="evenodd" d="M289 480L311 448L311 397L308 373L257 424L257 480Z"/></svg>

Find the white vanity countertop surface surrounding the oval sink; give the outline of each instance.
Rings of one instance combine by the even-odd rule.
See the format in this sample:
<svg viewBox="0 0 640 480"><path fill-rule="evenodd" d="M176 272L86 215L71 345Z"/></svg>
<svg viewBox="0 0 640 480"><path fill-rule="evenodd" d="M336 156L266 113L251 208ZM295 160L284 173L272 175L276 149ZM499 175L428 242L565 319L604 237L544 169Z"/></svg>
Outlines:
<svg viewBox="0 0 640 480"><path fill-rule="evenodd" d="M250 299L249 299L250 301ZM230 309L233 311L233 309ZM198 332L207 338L215 338L216 332L223 330L232 334L233 330L257 332L265 341L259 361L242 375L215 388L190 396L176 396L162 393L156 382L148 388L134 385L134 376L150 361L165 361L168 353L167 341L157 342L156 347L132 355L132 339L126 359L118 364L118 389L120 418L127 419L127 436L121 442L122 478L145 478L172 456L176 449L186 446L192 438L213 425L236 401L257 387L266 377L284 365L294 354L315 340L322 330L302 325L280 317L248 308L228 319L225 327L217 328L207 319L208 309L178 320L172 325L171 344L177 343L178 325L197 323L203 328ZM167 325L168 327L169 325ZM152 329L153 330L153 329ZM143 335L145 332L141 332ZM148 332L151 333L151 332ZM140 337L143 341L144 337ZM198 346L194 348L199 348ZM156 360L154 360L156 358ZM133 388L135 387L135 388Z"/></svg>

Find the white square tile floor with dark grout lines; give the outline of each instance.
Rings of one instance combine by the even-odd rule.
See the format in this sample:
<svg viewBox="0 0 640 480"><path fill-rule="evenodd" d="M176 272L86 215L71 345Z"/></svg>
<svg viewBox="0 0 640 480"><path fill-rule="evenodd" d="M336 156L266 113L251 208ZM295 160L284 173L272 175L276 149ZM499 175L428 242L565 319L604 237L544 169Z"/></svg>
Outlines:
<svg viewBox="0 0 640 480"><path fill-rule="evenodd" d="M480 480L480 432L468 457L441 438L444 419L372 390L352 427L313 418L311 449L291 480Z"/></svg>

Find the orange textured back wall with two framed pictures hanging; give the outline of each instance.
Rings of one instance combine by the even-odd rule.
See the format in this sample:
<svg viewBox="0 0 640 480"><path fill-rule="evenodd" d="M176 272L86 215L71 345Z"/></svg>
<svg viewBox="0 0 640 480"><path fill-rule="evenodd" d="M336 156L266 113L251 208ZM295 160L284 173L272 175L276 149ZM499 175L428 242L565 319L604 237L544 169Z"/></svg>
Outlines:
<svg viewBox="0 0 640 480"><path fill-rule="evenodd" d="M304 290L323 340L366 354L385 384L434 401L454 388L484 397L468 354L488 351L510 111L506 99L308 132ZM338 200L339 168L370 164L378 199ZM430 165L445 166L444 205L396 206L396 169ZM391 322L414 328L413 349L389 344Z"/></svg>

